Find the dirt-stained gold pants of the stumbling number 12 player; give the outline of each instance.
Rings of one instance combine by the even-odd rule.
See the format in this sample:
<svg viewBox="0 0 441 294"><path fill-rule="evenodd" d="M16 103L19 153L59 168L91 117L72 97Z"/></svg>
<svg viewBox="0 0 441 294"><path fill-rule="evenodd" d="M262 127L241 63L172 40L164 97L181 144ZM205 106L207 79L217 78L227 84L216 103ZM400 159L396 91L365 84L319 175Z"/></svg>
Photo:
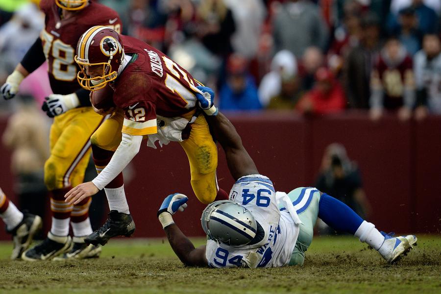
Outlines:
<svg viewBox="0 0 441 294"><path fill-rule="evenodd" d="M190 119L191 116L192 113L184 117ZM115 151L121 143L123 119L123 110L118 109L92 135L90 139L92 145ZM216 180L218 149L203 115L200 115L192 124L190 137L180 144L190 163L191 185L196 197L204 204L213 202L218 192ZM104 167L104 164L97 165L97 171L101 171Z"/></svg>

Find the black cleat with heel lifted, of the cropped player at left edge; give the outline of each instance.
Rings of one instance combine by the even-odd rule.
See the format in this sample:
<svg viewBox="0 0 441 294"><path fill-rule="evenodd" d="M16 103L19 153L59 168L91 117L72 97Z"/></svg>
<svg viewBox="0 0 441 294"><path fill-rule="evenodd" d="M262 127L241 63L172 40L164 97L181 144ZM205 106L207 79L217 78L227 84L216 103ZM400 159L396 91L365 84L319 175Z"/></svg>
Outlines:
<svg viewBox="0 0 441 294"><path fill-rule="evenodd" d="M33 237L43 226L43 222L39 216L24 213L23 220L12 230L7 231L12 234L14 249L12 249L11 259L20 259L23 251L25 251L32 243Z"/></svg>

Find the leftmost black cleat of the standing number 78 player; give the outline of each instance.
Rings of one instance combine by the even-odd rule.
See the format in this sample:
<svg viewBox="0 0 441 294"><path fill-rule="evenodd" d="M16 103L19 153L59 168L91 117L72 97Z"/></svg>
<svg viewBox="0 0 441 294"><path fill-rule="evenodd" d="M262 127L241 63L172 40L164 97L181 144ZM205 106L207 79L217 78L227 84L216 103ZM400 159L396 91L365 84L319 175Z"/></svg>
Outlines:
<svg viewBox="0 0 441 294"><path fill-rule="evenodd" d="M23 252L22 259L26 261L51 260L57 255L68 252L71 247L71 236L59 237L49 232L48 238L42 243Z"/></svg>

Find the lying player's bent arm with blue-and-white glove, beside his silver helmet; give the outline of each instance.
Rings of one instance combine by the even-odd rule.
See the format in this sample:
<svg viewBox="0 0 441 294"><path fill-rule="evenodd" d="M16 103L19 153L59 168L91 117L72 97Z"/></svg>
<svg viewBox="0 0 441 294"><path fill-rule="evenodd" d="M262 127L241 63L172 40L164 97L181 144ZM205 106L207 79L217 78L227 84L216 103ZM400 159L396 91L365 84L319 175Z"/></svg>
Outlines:
<svg viewBox="0 0 441 294"><path fill-rule="evenodd" d="M195 248L195 245L181 232L174 223L172 215L187 207L187 196L175 193L167 196L158 211L158 219L167 234L167 239L174 253L188 267L207 267L205 245Z"/></svg>

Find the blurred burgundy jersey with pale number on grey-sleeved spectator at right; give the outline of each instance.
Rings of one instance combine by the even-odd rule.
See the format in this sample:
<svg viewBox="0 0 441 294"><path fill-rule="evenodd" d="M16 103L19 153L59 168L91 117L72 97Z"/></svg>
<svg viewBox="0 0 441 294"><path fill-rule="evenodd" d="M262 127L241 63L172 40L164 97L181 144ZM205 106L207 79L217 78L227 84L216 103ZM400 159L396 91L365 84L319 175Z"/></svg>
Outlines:
<svg viewBox="0 0 441 294"><path fill-rule="evenodd" d="M412 58L406 55L399 64L391 65L380 54L375 65L376 76L384 90L384 107L396 109L403 105L404 89L414 84Z"/></svg>

